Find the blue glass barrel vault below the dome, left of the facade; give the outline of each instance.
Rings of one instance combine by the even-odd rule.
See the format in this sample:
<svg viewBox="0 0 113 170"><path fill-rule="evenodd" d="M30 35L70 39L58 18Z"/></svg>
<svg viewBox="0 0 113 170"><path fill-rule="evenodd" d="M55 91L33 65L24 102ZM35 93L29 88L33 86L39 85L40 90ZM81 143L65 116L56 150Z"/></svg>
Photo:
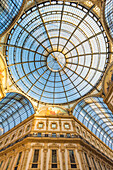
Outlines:
<svg viewBox="0 0 113 170"><path fill-rule="evenodd" d="M34 114L31 102L19 93L7 93L0 101L0 128L3 133Z"/></svg>

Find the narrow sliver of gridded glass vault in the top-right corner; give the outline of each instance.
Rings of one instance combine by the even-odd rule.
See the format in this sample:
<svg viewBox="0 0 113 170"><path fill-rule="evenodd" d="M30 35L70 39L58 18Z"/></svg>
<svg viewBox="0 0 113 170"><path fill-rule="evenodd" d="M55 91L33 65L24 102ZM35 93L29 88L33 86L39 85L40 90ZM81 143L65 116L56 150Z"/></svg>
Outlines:
<svg viewBox="0 0 113 170"><path fill-rule="evenodd" d="M106 0L105 19L109 28L110 35L113 38L113 0Z"/></svg>

